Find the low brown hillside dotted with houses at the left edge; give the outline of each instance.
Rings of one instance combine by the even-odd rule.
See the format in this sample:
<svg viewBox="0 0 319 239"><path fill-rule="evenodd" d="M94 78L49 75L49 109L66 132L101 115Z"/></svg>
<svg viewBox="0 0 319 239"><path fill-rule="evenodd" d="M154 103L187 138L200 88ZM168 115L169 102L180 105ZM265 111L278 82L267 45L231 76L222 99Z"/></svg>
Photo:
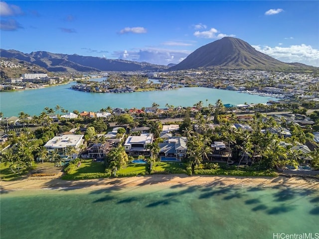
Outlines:
<svg viewBox="0 0 319 239"><path fill-rule="evenodd" d="M19 78L27 73L48 73L46 69L27 61L0 57L0 78Z"/></svg>

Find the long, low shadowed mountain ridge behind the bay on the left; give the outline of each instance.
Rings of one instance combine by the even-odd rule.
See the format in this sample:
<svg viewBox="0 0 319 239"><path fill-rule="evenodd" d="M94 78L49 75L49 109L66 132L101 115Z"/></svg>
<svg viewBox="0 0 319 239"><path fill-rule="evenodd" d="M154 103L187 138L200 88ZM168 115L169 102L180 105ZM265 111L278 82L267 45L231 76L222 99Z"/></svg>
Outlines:
<svg viewBox="0 0 319 239"><path fill-rule="evenodd" d="M109 60L101 57L56 54L47 51L36 51L27 54L16 50L0 49L0 56L33 63L52 72L143 71L168 68L146 62Z"/></svg>

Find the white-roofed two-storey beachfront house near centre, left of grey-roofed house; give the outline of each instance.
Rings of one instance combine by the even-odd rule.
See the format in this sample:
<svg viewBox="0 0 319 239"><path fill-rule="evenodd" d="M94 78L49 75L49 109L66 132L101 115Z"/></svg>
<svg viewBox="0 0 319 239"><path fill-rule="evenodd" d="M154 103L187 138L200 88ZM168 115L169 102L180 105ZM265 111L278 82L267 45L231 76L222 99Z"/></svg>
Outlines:
<svg viewBox="0 0 319 239"><path fill-rule="evenodd" d="M153 133L142 133L140 136L129 136L125 143L125 151L131 156L150 156L150 149L146 148L147 144L153 143Z"/></svg>

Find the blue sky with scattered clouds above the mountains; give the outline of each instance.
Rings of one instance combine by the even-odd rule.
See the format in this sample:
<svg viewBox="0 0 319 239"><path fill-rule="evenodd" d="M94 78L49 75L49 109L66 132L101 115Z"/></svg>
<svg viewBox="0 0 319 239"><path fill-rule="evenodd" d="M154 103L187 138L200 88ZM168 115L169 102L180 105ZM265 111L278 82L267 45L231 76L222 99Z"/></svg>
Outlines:
<svg viewBox="0 0 319 239"><path fill-rule="evenodd" d="M319 66L319 1L1 1L0 46L167 65L234 36Z"/></svg>

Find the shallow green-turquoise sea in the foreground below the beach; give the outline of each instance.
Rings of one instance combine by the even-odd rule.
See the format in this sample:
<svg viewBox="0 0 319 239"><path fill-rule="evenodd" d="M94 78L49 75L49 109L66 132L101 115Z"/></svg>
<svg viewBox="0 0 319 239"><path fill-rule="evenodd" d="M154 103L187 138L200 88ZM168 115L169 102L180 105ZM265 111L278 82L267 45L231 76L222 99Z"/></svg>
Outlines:
<svg viewBox="0 0 319 239"><path fill-rule="evenodd" d="M318 233L318 191L221 185L2 192L1 239L272 239L273 233Z"/></svg>

